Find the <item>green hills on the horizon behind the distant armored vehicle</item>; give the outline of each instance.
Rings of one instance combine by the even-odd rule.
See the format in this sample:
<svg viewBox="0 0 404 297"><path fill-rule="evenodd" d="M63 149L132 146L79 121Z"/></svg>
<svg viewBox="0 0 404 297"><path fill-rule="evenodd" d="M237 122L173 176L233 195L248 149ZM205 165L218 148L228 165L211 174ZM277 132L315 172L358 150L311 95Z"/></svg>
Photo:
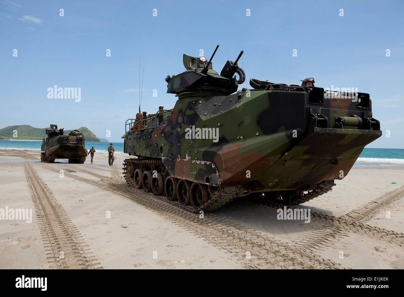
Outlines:
<svg viewBox="0 0 404 297"><path fill-rule="evenodd" d="M62 127L61 127L62 128ZM46 128L50 129L50 127ZM17 130L17 137L13 137L14 130ZM101 142L94 135L93 132L88 130L86 127L80 127L77 130L80 130L83 133L84 137L86 137L86 141L95 141ZM64 135L69 134L70 130L65 130ZM15 126L8 126L6 128L0 129L0 139L15 139L15 140L42 140L43 137L46 138L45 128L34 128L33 126L29 125L15 125ZM2 138L3 137L3 138Z"/></svg>

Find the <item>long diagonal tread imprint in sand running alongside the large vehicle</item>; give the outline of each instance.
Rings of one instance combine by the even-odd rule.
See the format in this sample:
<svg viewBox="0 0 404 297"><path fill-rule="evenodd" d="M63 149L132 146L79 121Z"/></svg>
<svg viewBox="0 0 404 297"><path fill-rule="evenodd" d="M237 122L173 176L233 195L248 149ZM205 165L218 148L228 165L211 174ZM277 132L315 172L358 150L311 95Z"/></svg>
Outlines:
<svg viewBox="0 0 404 297"><path fill-rule="evenodd" d="M58 169L43 164L44 169L59 173ZM80 170L79 170L80 171ZM85 170L83 170L85 171ZM85 172L87 173L87 172ZM339 268L340 264L320 258L311 251L301 251L295 246L276 240L266 234L251 230L235 222L222 219L213 213L205 213L203 218L169 203L165 197L154 196L128 187L126 184L111 182L108 177L98 180L99 175L88 172L97 179L87 179L65 173L78 181L93 185L101 190L133 200L159 216L179 225L208 243L224 249L234 256L244 268ZM246 255L250 253L248 259Z"/></svg>

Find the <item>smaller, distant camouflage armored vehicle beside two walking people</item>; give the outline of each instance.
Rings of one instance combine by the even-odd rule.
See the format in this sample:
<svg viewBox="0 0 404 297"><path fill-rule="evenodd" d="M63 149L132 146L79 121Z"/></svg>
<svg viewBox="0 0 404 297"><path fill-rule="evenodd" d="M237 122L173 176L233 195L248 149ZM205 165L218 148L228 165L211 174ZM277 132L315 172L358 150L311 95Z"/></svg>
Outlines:
<svg viewBox="0 0 404 297"><path fill-rule="evenodd" d="M42 140L41 161L52 163L56 158L69 159L69 163L83 164L88 154L85 148L84 135L78 130L70 131L69 135L63 135L63 129L57 125L50 125L45 130L46 139Z"/></svg>

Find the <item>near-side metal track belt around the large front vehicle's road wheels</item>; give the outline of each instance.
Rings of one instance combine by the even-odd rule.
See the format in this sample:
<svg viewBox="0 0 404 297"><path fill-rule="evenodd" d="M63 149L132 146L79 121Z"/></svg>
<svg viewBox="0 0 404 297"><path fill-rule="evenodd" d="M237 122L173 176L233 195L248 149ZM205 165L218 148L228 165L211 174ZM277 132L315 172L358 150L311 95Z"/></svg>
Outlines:
<svg viewBox="0 0 404 297"><path fill-rule="evenodd" d="M159 173L161 173L161 169L163 162L161 160L139 160L135 158L129 158L125 159L124 163L122 165L124 166L123 169L123 175L126 183L130 187L135 187L134 184L134 179L129 177L126 173L126 168L128 162L133 162L135 163L135 169L142 168L142 167L152 167L154 170L157 170ZM165 179L164 179L165 180ZM211 187L208 187L208 192L209 192L209 200L205 204L201 205L197 209L194 208L192 205L183 205L180 204L178 201L169 201L171 204L174 204L175 206L178 206L182 209L185 209L187 211L193 212L193 213L199 213L200 211L204 212L210 212L210 211L215 211L219 209L221 206L231 202L235 196L237 196L237 193L239 191L234 190L234 191L227 191L225 187L219 187L218 190L213 190ZM163 192L164 195L164 192Z"/></svg>

